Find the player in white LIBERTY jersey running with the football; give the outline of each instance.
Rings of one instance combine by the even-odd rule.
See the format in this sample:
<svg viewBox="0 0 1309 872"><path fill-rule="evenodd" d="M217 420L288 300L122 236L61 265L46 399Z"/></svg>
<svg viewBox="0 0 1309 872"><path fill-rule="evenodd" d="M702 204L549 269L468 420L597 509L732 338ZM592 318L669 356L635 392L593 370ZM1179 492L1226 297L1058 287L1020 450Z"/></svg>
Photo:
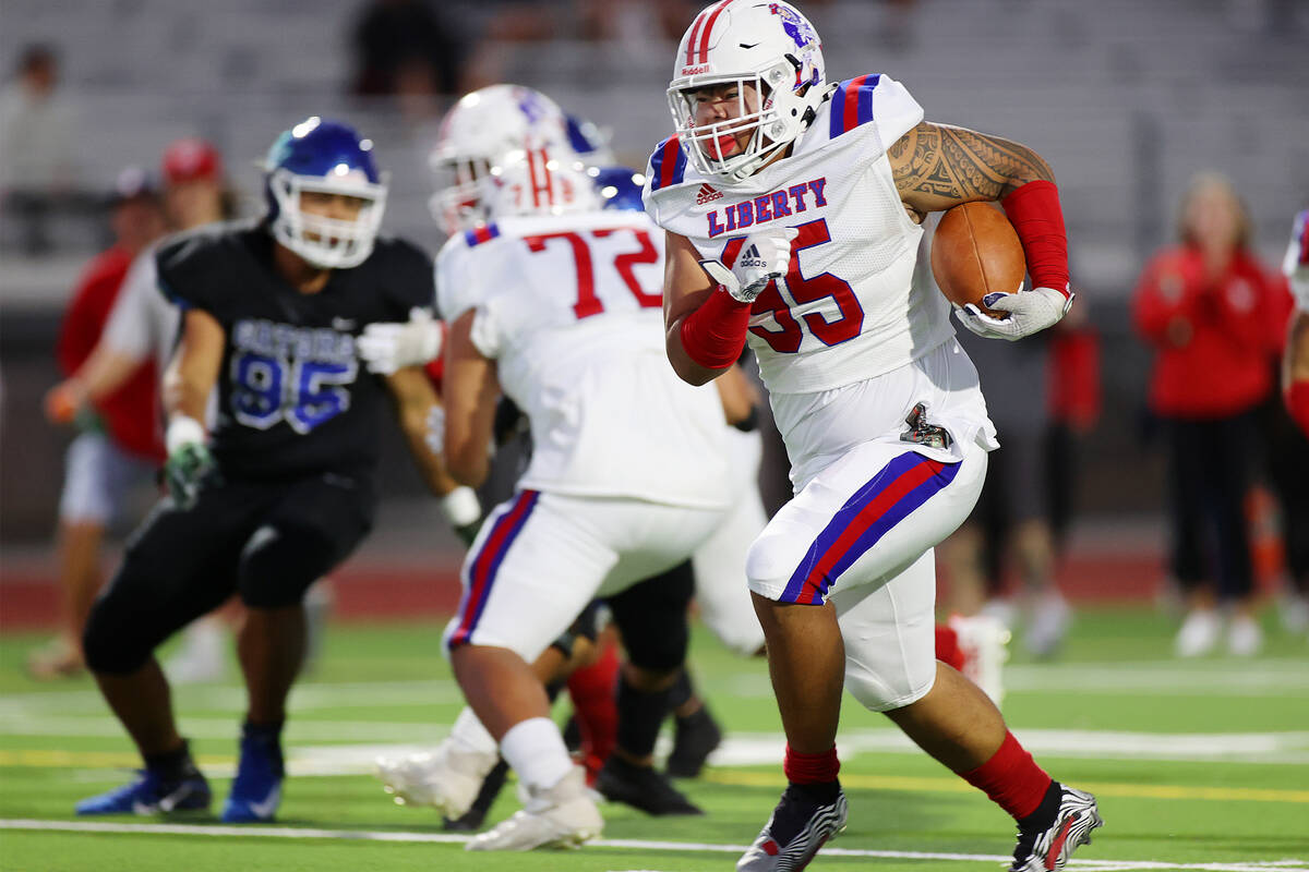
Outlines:
<svg viewBox="0 0 1309 872"><path fill-rule="evenodd" d="M781 1L700 12L668 95L677 135L645 195L668 231L668 356L703 384L750 341L796 493L746 562L789 786L737 868L800 868L844 826L843 684L1017 820L1012 869L1063 868L1101 825L1094 797L1042 771L932 655L932 548L967 516L997 442L946 302L911 282L927 212L997 200L1034 288L988 298L1007 318L959 320L1005 340L1056 323L1071 297L1049 166L924 122L888 76L830 82L813 26Z"/></svg>

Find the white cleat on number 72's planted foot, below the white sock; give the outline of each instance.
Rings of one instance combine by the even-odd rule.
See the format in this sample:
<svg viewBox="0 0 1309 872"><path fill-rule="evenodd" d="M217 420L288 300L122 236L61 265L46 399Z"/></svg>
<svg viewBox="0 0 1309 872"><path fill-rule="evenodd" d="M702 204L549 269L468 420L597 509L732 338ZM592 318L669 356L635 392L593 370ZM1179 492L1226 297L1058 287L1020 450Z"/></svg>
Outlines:
<svg viewBox="0 0 1309 872"><path fill-rule="evenodd" d="M580 766L548 788L528 787L522 811L492 830L474 837L469 851L530 851L537 847L579 847L605 829L596 801L586 791Z"/></svg>

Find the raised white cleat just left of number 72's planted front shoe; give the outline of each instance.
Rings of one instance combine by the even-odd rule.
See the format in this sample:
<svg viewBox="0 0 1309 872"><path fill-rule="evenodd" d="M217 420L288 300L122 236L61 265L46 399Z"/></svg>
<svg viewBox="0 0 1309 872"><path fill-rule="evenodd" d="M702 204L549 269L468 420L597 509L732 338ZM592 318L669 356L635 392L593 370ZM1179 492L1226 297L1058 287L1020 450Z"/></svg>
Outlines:
<svg viewBox="0 0 1309 872"><path fill-rule="evenodd" d="M397 805L431 805L445 817L463 817L499 754L465 750L446 739L432 753L377 760L377 777Z"/></svg>

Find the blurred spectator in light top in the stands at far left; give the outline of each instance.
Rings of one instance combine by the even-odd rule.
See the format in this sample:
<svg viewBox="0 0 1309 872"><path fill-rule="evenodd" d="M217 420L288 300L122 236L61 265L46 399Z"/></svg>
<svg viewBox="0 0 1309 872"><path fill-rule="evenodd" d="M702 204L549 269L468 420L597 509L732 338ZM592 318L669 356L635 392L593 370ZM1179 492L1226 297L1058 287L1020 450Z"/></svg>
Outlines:
<svg viewBox="0 0 1309 872"><path fill-rule="evenodd" d="M50 250L52 210L94 208L76 190L73 107L59 93L59 59L48 46L24 48L14 80L0 93L0 195L22 225L21 247Z"/></svg>

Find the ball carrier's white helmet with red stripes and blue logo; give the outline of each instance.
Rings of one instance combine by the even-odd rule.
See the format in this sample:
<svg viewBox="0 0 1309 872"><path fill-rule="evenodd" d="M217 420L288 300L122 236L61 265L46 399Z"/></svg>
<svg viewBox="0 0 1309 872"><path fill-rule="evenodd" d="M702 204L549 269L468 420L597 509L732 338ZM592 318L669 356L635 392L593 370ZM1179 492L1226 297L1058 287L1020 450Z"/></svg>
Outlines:
<svg viewBox="0 0 1309 872"><path fill-rule="evenodd" d="M737 116L695 123L694 92L736 85ZM758 110L747 111L746 92ZM725 183L740 182L795 141L813 122L826 92L822 43L789 3L721 0L695 17L677 48L668 103L692 165ZM753 131L740 154L724 140Z"/></svg>

